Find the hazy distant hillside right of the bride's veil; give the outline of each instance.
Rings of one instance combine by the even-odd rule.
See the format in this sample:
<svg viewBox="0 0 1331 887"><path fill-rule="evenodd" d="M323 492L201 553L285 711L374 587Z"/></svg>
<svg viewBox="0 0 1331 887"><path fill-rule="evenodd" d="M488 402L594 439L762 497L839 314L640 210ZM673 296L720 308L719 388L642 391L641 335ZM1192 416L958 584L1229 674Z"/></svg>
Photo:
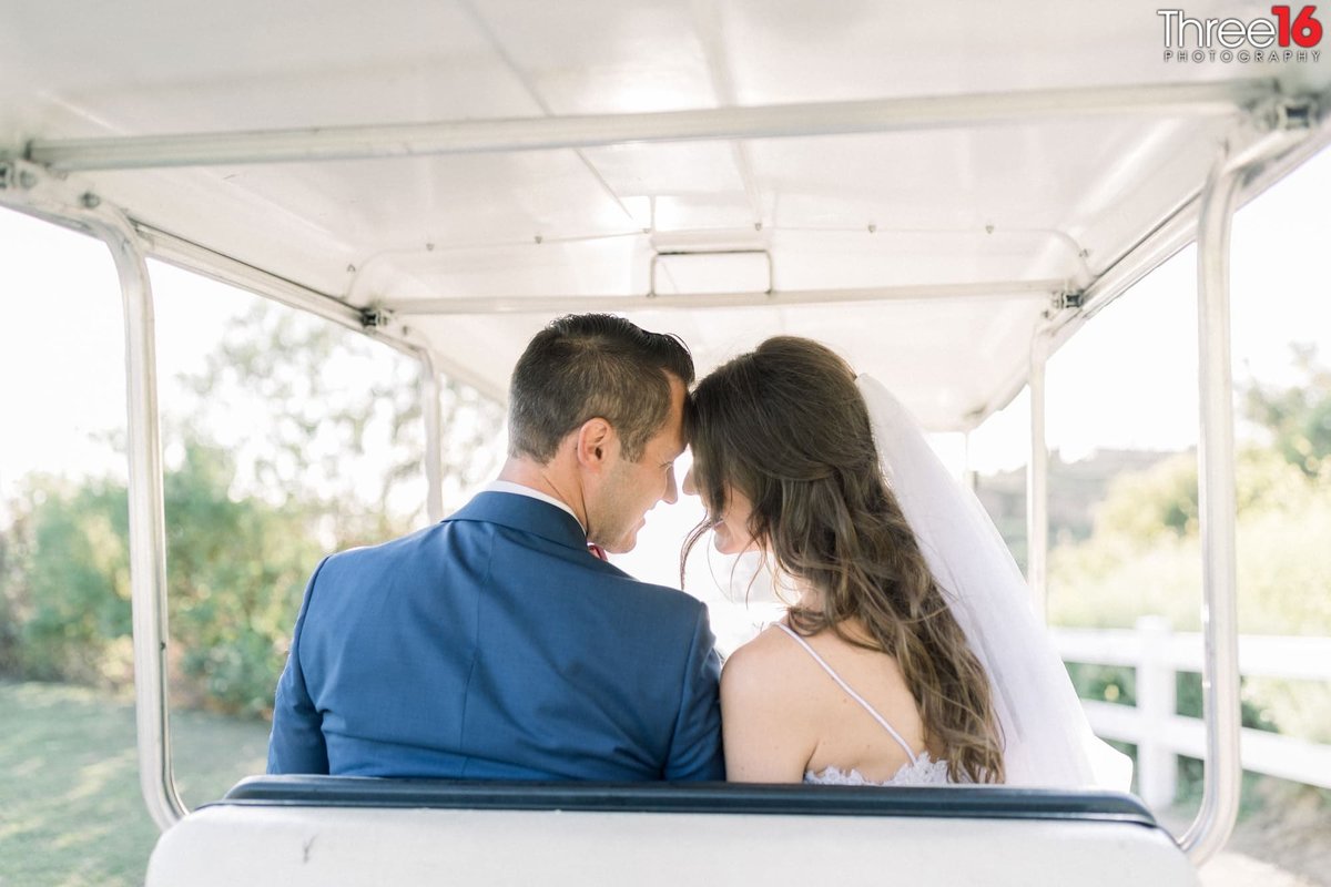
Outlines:
<svg viewBox="0 0 1331 887"><path fill-rule="evenodd" d="M1177 455L1154 449L1101 449L1090 459L1049 455L1049 544L1086 539L1095 505L1118 475L1145 471ZM1026 569L1026 469L976 477L976 496L993 517L1017 564Z"/></svg>

